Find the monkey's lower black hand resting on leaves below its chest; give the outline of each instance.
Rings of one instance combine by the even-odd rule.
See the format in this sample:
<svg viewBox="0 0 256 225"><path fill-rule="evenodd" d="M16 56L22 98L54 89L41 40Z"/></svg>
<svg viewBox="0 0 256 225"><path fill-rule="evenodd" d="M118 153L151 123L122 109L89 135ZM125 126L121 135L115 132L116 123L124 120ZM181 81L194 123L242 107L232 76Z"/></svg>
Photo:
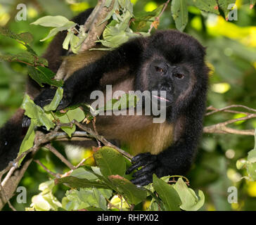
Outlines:
<svg viewBox="0 0 256 225"><path fill-rule="evenodd" d="M145 186L152 183L153 174L163 176L164 168L160 167L161 162L158 160L158 155L151 153L141 153L132 158L132 166L127 169L126 174L130 174L134 169L142 167L137 172L132 174L134 179L132 183L140 186Z"/></svg>

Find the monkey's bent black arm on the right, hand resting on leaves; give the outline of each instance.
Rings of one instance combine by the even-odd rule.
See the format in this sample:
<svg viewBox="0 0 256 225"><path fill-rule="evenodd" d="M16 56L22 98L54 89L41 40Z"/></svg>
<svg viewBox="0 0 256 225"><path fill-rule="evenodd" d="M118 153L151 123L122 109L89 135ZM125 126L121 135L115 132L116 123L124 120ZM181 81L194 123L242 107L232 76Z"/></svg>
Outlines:
<svg viewBox="0 0 256 225"><path fill-rule="evenodd" d="M182 125L183 132L172 146L158 155L141 153L132 159L132 166L127 169L127 174L142 167L133 174L134 184L144 186L151 183L153 174L158 177L186 174L193 162L198 139L203 131L204 105L205 103L198 99L191 103L182 115L182 124L176 124Z"/></svg>

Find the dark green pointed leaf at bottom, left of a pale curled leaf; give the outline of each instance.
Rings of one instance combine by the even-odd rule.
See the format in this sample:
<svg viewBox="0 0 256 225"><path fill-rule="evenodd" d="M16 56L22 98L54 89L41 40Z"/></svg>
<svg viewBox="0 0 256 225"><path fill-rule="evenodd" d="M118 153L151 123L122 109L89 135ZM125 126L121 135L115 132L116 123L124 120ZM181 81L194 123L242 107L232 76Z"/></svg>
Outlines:
<svg viewBox="0 0 256 225"><path fill-rule="evenodd" d="M159 179L153 174L153 187L158 193L167 211L179 211L181 205L181 199L174 187Z"/></svg>

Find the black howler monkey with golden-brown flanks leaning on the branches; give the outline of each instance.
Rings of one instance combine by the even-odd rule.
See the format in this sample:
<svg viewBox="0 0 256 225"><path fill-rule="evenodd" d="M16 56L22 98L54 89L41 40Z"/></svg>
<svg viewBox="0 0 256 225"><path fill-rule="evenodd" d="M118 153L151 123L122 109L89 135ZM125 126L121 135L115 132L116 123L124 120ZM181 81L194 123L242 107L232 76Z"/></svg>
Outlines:
<svg viewBox="0 0 256 225"><path fill-rule="evenodd" d="M53 40L55 44L49 46L45 56L53 70L58 69L60 61L53 59L51 53L65 54L61 44L56 44L61 43L61 38ZM103 56L99 51L70 56L65 65L63 101L58 109L90 102L91 91L105 91L107 84L113 85L113 91L166 91L166 98L158 98L167 103L165 122L153 123L151 115L99 116L96 127L106 139L125 144L136 155L127 169L129 174L142 167L133 174L134 184L150 183L153 174L159 177L184 174L191 166L203 130L208 80L204 58L203 46L176 30L132 39ZM34 102L41 107L47 105L55 91L44 89ZM11 143L5 142L6 133L1 131L1 135L0 154L4 155Z"/></svg>

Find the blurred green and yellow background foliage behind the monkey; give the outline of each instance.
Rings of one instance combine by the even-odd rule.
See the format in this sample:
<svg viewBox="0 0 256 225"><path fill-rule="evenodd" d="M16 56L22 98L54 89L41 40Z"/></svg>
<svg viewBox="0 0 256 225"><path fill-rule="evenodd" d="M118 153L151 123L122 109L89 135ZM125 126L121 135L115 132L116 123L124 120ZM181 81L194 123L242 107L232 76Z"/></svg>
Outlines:
<svg viewBox="0 0 256 225"><path fill-rule="evenodd" d="M191 0L193 1L193 0ZM27 6L27 20L16 21L16 6ZM134 14L152 11L165 1L133 0ZM46 37L49 28L30 25L44 15L64 15L67 18L96 5L96 0L0 0L0 26L13 32L31 32L34 35L33 49L41 55L49 40ZM196 37L207 47L207 61L212 68L210 90L207 105L222 108L226 105L241 104L256 108L256 10L250 9L250 1L236 1L238 20L227 22L219 15L201 13L189 6L188 25L184 32ZM148 24L149 27L150 23ZM148 30L146 27L146 31ZM175 29L170 13L170 4L160 18L159 30ZM23 46L12 39L0 36L0 54L19 53ZM20 63L0 63L0 126L8 120L23 101L27 69ZM205 125L217 124L229 119L243 117L239 114L217 113L205 117ZM256 120L247 120L233 124L236 129L255 129ZM205 206L201 210L256 210L256 181L241 180L245 171L236 169L236 160L246 157L254 146L253 136L234 134L204 134L198 150L196 163L187 175L191 188L201 189L205 193ZM72 149L74 152L74 149ZM63 150L64 151L64 150ZM72 151L71 151L72 152ZM74 154L68 158L76 160ZM77 153L75 153L77 154ZM88 157L89 150L80 150L79 157ZM76 155L75 155L76 156ZM41 150L37 158L53 172L68 171L61 162L49 152ZM35 162L27 170L20 186L27 188L27 204L13 205L24 210L30 205L32 195L39 193L38 186L48 180L49 174ZM229 204L227 189L238 188L238 203ZM55 195L59 200L65 194L65 188L58 186ZM146 204L144 205L146 207ZM8 207L5 208L8 210Z"/></svg>

